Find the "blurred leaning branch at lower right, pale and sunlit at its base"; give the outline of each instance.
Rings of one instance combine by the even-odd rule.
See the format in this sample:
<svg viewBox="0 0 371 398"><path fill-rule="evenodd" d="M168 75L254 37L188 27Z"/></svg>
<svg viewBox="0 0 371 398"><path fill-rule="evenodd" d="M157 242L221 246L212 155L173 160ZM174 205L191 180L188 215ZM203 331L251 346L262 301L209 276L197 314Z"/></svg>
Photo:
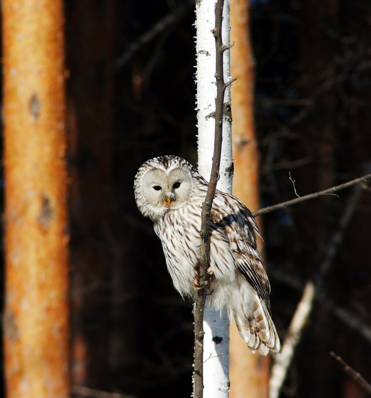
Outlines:
<svg viewBox="0 0 371 398"><path fill-rule="evenodd" d="M361 192L362 186L358 185L357 187L355 187L353 195L348 200L343 216L340 219L339 226L327 246L325 258L319 267L320 273L319 277L317 278L316 284L314 284L313 281L309 280L305 285L302 298L297 305L297 309L295 310L293 319L288 329L287 337L282 346L282 353L278 354L275 357L269 386L270 398L277 398L280 395L280 391L286 379L287 372L290 368L294 352L300 341L302 330L313 308L315 296L321 289L323 278L325 277L331 264L333 263L333 259L339 249L342 240L344 239L345 230L348 227L350 220L352 219L352 215L354 214L354 211L356 209L356 204L359 201Z"/></svg>

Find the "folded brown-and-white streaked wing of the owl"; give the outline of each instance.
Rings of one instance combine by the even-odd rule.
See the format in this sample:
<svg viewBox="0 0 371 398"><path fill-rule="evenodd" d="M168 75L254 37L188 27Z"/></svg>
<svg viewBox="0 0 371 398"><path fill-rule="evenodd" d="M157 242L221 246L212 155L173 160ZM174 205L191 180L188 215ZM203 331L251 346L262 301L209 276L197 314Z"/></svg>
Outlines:
<svg viewBox="0 0 371 398"><path fill-rule="evenodd" d="M211 211L211 228L225 232L237 268L271 312L271 287L256 246L258 226L250 210L237 198L217 191Z"/></svg>

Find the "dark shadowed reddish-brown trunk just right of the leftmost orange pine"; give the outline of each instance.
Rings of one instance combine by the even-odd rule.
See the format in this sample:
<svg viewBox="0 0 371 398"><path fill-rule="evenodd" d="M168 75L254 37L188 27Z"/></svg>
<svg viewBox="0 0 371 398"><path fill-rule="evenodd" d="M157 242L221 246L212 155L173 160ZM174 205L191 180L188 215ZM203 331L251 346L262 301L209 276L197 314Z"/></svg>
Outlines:
<svg viewBox="0 0 371 398"><path fill-rule="evenodd" d="M72 382L110 388L114 1L67 7ZM120 264L122 266L122 264Z"/></svg>

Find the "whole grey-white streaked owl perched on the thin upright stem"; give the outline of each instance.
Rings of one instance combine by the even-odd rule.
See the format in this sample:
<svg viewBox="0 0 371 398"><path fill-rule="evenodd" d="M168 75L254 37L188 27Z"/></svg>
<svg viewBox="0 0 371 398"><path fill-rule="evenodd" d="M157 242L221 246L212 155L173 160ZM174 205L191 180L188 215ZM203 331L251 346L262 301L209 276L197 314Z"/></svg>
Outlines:
<svg viewBox="0 0 371 398"><path fill-rule="evenodd" d="M207 189L208 182L177 156L147 160L134 180L137 206L153 221L168 272L183 298L195 299L200 288L201 211ZM227 309L253 352L279 352L270 285L256 246L260 234L251 212L234 196L217 190L209 234L211 305Z"/></svg>

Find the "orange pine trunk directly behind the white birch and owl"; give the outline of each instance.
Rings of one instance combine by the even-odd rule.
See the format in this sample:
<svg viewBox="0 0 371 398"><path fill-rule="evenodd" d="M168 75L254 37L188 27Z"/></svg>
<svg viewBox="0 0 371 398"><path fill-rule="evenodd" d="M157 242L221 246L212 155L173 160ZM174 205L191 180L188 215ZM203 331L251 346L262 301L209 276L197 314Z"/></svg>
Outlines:
<svg viewBox="0 0 371 398"><path fill-rule="evenodd" d="M249 34L249 1L230 0L233 194L251 211L259 209L259 157L254 129L254 59ZM261 249L261 247L260 247ZM268 397L269 357L252 354L230 327L230 398Z"/></svg>

